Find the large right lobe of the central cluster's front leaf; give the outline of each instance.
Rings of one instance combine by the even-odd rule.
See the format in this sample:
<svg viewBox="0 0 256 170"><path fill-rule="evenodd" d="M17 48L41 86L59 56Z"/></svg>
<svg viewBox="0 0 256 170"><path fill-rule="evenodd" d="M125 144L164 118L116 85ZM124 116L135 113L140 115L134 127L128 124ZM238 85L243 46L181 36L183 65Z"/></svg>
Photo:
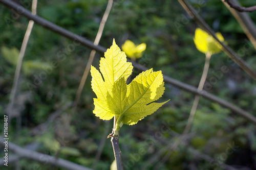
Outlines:
<svg viewBox="0 0 256 170"><path fill-rule="evenodd" d="M145 116L154 113L167 102L154 102L161 98L164 89L161 71L153 72L153 69L150 69L138 75L127 87L128 101L126 109L122 111L122 123L134 125Z"/></svg>

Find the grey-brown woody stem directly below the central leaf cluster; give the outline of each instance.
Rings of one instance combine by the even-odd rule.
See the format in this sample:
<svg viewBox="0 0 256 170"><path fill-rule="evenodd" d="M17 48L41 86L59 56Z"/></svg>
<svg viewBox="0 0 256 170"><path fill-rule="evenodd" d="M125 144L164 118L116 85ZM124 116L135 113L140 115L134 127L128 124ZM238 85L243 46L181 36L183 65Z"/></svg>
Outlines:
<svg viewBox="0 0 256 170"><path fill-rule="evenodd" d="M119 148L119 135L115 135L111 138L112 146L113 146L113 151L116 159L116 167L117 170L123 170L123 165L122 165L122 152Z"/></svg>

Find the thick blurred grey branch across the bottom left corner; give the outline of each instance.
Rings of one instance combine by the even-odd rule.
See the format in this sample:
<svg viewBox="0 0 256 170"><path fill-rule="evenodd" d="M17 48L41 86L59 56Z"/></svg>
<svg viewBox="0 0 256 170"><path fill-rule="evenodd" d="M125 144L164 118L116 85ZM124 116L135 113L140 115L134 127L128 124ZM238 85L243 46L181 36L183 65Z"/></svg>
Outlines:
<svg viewBox="0 0 256 170"><path fill-rule="evenodd" d="M5 144L4 141L5 141L4 138L0 137L0 144L1 145ZM41 162L43 164L50 163L52 165L55 165L55 166L58 166L58 167L67 168L67 169L71 169L71 170L74 170L74 169L76 169L76 170L92 170L91 168L78 165L76 163L67 161L65 159L59 158L59 159L56 160L56 158L53 157L53 156L20 148L20 147L18 147L18 145L13 144L13 143L11 143L9 141L8 141L8 149L13 151L16 155L18 155L20 157L32 159L32 160Z"/></svg>

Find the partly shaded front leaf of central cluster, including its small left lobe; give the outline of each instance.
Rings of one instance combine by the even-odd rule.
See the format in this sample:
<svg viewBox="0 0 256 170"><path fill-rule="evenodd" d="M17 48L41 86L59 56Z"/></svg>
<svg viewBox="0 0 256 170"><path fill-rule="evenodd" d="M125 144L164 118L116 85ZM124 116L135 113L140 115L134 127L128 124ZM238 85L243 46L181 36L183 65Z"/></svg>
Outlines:
<svg viewBox="0 0 256 170"><path fill-rule="evenodd" d="M163 95L163 85L161 71L153 69L143 71L128 86L122 78L115 83L113 95L108 95L109 109L123 124L134 125L167 102L152 103Z"/></svg>

